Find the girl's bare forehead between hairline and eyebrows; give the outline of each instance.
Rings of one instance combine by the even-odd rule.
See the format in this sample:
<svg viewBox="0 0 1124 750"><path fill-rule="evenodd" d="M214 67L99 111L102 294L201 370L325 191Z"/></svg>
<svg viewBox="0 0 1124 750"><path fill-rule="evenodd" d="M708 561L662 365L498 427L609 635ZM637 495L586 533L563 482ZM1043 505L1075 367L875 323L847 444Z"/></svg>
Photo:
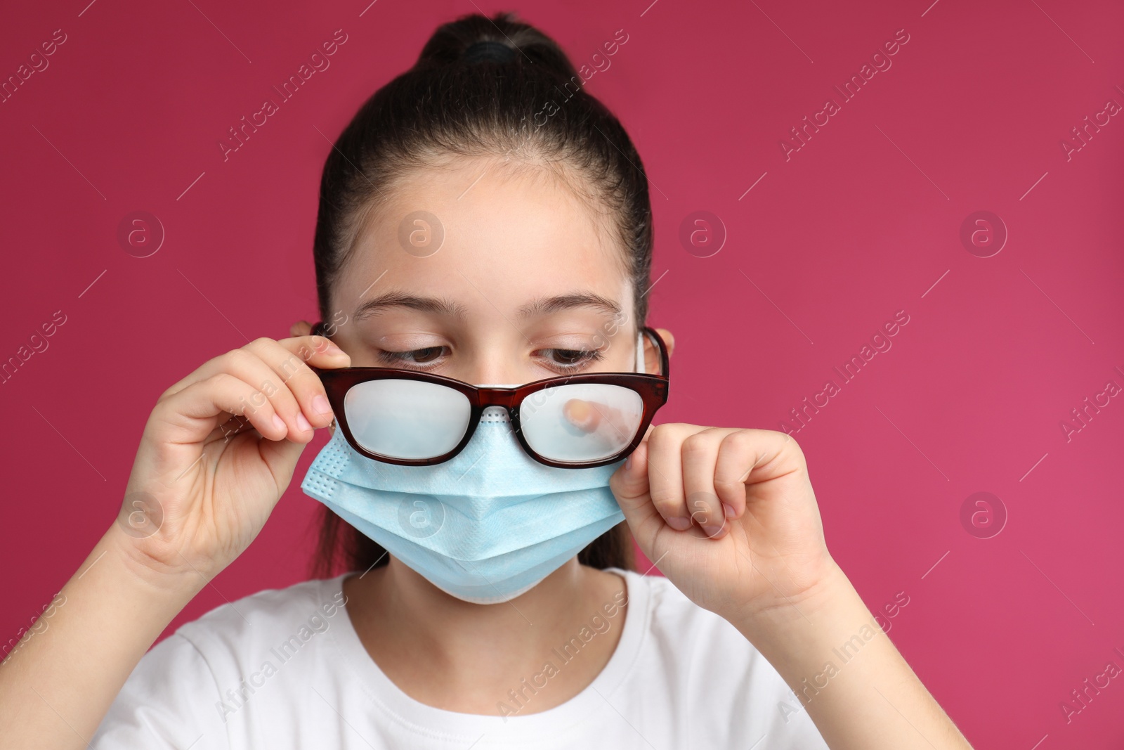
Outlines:
<svg viewBox="0 0 1124 750"><path fill-rule="evenodd" d="M509 311L590 290L631 309L611 216L552 169L459 157L375 196L333 292L350 311L388 289Z"/></svg>

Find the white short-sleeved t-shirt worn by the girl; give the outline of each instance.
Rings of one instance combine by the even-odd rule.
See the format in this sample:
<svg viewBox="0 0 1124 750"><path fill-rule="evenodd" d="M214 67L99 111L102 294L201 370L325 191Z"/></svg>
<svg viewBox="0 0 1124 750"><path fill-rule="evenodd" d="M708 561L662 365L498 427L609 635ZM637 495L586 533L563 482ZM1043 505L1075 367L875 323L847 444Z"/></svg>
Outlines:
<svg viewBox="0 0 1124 750"><path fill-rule="evenodd" d="M487 748L823 749L780 675L729 623L665 578L625 577L627 609L610 609L560 644L558 665L607 627L623 627L601 674L538 713L528 676L514 715L462 714L409 697L352 627L344 576L261 591L214 609L148 651L98 728L94 750L484 750ZM506 713L506 712L505 712Z"/></svg>

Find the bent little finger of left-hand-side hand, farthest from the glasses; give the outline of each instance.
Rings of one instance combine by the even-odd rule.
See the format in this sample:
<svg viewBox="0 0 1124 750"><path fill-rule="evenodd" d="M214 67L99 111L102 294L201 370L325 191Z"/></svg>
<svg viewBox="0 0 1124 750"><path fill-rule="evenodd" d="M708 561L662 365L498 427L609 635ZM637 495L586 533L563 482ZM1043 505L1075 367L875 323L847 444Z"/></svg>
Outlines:
<svg viewBox="0 0 1124 750"><path fill-rule="evenodd" d="M289 434L289 426L265 394L227 372L193 382L158 403L151 424L166 433L158 436L162 441L198 443L214 432L219 415L226 414L242 416L270 440L284 440Z"/></svg>

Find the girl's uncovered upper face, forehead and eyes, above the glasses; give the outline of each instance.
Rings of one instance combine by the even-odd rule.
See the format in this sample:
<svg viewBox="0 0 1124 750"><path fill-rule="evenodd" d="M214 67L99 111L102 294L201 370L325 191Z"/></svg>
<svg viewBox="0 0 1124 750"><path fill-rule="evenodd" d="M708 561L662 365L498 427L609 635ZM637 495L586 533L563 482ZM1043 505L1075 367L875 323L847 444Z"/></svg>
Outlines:
<svg viewBox="0 0 1124 750"><path fill-rule="evenodd" d="M353 367L474 385L635 369L633 289L608 217L553 178L504 166L459 159L415 172L377 204L328 319L342 323L333 338ZM419 210L444 231L428 256L432 246L408 252L399 241L399 225Z"/></svg>

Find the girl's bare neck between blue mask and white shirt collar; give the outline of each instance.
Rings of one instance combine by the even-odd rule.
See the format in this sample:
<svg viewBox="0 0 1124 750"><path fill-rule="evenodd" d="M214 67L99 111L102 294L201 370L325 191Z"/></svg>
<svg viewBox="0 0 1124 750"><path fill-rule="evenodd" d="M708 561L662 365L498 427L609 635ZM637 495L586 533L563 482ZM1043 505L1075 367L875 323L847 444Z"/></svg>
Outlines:
<svg viewBox="0 0 1124 750"><path fill-rule="evenodd" d="M393 557L344 581L347 612L379 668L410 697L461 713L537 713L600 674L625 620L619 576L573 558L522 596L479 605L445 594ZM607 616L606 605L617 605ZM569 649L566 644L574 643ZM546 665L550 679L540 678ZM533 694L527 681L549 687Z"/></svg>

